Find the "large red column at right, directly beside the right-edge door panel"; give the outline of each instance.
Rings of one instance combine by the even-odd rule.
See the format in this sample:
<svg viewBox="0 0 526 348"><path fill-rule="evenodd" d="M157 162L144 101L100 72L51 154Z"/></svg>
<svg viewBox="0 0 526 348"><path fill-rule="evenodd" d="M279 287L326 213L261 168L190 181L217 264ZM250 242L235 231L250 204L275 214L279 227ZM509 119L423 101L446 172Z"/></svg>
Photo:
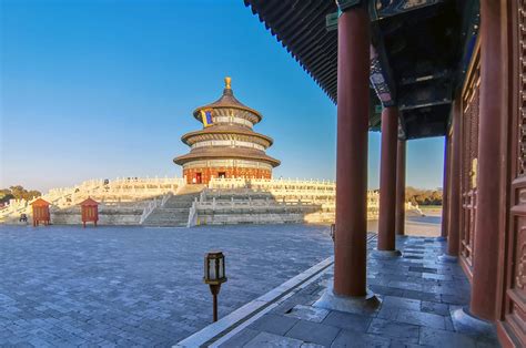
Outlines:
<svg viewBox="0 0 526 348"><path fill-rule="evenodd" d="M497 318L496 308L499 234L504 231L500 191L504 135L507 115L506 13L502 1L481 1L481 109L478 123L477 214L473 256L471 311L487 320Z"/></svg>

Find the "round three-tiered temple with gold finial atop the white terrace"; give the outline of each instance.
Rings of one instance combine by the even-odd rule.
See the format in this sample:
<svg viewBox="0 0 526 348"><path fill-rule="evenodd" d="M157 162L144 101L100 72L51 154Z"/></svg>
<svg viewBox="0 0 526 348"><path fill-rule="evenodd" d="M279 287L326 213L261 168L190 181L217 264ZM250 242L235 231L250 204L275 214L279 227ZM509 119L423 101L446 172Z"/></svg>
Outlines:
<svg viewBox="0 0 526 348"><path fill-rule="evenodd" d="M280 165L265 154L273 140L253 131L261 113L237 101L231 79L224 81L223 95L193 112L203 129L181 137L190 153L173 160L183 166L189 184L208 184L213 177L271 178L272 168Z"/></svg>

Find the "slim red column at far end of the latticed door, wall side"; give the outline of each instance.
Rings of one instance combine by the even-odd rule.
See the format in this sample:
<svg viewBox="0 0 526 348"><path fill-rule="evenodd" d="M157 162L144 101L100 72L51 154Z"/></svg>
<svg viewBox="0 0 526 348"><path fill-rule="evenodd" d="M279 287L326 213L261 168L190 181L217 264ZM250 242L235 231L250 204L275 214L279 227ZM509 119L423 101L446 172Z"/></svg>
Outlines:
<svg viewBox="0 0 526 348"><path fill-rule="evenodd" d="M451 186L447 222L447 255L458 257L461 242L461 98L457 96L453 103L453 133L452 133L452 162L451 162ZM453 180L455 178L455 180Z"/></svg>

